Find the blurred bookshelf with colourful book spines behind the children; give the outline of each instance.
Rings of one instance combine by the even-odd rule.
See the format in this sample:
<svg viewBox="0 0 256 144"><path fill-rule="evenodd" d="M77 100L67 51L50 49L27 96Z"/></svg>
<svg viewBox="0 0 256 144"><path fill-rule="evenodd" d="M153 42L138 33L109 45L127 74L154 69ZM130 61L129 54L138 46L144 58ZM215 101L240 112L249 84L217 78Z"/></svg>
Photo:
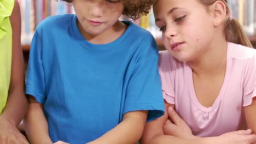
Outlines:
<svg viewBox="0 0 256 144"><path fill-rule="evenodd" d="M35 27L43 19L50 15L60 15L71 13L74 14L72 4L63 1L53 0L18 0L21 5L22 15L22 50L30 51L30 41ZM249 40L251 40L256 49L256 0L228 0L228 4L232 9L233 17L235 17L246 32ZM120 20L127 20L127 17L120 17ZM164 50L164 45L161 41L161 33L159 28L155 26L153 11L147 16L142 16L140 19L133 21L137 25L150 31L158 43L159 50Z"/></svg>

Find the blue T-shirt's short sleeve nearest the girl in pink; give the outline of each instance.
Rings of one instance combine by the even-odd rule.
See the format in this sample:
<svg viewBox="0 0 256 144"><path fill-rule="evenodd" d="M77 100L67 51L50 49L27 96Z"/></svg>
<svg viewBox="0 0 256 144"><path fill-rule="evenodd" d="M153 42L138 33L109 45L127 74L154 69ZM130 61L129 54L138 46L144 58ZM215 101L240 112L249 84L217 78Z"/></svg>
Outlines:
<svg viewBox="0 0 256 144"><path fill-rule="evenodd" d="M147 39L148 40L148 39ZM124 112L148 110L147 122L165 113L164 99L158 71L158 50L154 38L145 41L140 48L150 50L142 54L133 68L127 84Z"/></svg>

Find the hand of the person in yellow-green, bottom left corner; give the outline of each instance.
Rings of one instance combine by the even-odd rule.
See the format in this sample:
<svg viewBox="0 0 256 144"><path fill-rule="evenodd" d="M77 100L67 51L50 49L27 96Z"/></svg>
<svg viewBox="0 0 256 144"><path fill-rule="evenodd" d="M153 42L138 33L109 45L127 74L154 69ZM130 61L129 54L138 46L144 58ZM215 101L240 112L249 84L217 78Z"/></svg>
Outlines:
<svg viewBox="0 0 256 144"><path fill-rule="evenodd" d="M0 143L28 144L26 137L22 135L15 125L8 121L3 115L0 115Z"/></svg>

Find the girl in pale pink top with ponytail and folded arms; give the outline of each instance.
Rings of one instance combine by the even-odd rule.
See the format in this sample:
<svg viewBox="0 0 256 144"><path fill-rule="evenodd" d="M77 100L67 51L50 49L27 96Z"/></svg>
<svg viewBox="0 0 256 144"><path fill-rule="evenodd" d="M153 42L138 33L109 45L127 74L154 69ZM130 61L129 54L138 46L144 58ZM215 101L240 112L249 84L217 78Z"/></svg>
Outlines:
<svg viewBox="0 0 256 144"><path fill-rule="evenodd" d="M168 51L159 71L170 119L166 112L149 122L142 143L255 142L256 51L226 1L158 0L153 8Z"/></svg>

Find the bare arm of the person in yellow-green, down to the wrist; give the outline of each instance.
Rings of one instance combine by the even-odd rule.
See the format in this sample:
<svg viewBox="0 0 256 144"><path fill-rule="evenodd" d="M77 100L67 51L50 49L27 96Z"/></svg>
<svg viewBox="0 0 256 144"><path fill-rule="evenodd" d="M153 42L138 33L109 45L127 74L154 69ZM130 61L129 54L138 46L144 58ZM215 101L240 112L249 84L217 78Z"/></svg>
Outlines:
<svg viewBox="0 0 256 144"><path fill-rule="evenodd" d="M10 22L13 29L11 79L7 104L1 116L7 118L16 127L21 122L27 110L27 99L24 94L24 61L20 42L21 16L17 0L15 0Z"/></svg>

